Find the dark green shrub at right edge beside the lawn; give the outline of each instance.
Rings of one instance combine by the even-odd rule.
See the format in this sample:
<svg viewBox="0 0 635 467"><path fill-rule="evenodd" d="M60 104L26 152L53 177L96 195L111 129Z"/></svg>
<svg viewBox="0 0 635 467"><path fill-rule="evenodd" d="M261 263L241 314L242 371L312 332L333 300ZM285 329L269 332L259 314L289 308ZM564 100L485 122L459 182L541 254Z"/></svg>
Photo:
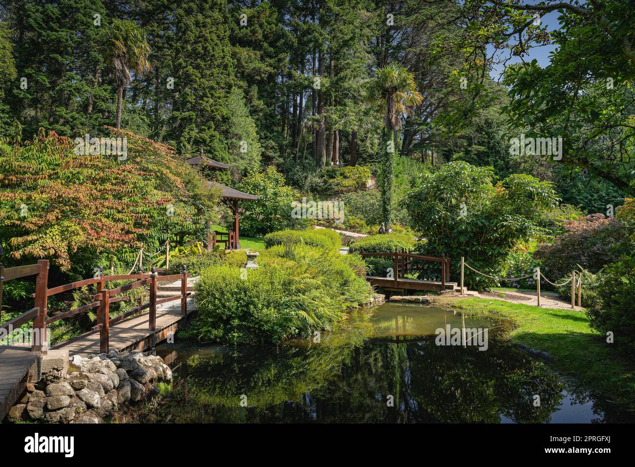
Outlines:
<svg viewBox="0 0 635 467"><path fill-rule="evenodd" d="M615 346L635 355L635 256L605 266L598 276L598 298L586 311L591 327L603 335L613 332Z"/></svg>

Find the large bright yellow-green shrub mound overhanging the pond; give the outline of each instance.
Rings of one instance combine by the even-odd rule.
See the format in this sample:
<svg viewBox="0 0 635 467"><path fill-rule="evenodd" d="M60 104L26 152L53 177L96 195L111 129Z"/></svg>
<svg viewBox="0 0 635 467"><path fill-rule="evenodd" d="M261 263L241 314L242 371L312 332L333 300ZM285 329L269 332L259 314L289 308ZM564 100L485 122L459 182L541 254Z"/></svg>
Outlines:
<svg viewBox="0 0 635 467"><path fill-rule="evenodd" d="M309 337L372 294L361 259L335 250L276 246L258 265L246 275L227 265L204 269L194 286L199 315L192 325L201 341L278 344Z"/></svg>

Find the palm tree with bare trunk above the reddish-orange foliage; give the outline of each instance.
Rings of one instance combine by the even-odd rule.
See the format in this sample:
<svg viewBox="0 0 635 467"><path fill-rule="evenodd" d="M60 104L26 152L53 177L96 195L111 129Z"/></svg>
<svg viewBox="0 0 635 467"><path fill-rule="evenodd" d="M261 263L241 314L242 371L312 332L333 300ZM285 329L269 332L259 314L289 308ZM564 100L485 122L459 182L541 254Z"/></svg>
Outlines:
<svg viewBox="0 0 635 467"><path fill-rule="evenodd" d="M121 128L121 103L123 90L130 83L130 70L142 73L150 69L148 55L150 45L143 30L135 23L126 20L113 20L105 25L98 38L99 53L105 64L112 67L117 84L117 123Z"/></svg>

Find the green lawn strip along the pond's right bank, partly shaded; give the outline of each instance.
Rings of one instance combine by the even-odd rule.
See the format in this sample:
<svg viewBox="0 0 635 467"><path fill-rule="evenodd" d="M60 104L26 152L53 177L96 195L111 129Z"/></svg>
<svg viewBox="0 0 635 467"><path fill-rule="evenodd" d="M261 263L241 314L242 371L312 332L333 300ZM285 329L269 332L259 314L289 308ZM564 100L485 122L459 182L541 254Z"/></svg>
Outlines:
<svg viewBox="0 0 635 467"><path fill-rule="evenodd" d="M570 309L537 308L496 299L459 299L448 303L466 315L504 318L513 323L512 342L554 356L553 365L562 374L575 377L635 409L635 365L606 344L602 335L589 327L587 316Z"/></svg>

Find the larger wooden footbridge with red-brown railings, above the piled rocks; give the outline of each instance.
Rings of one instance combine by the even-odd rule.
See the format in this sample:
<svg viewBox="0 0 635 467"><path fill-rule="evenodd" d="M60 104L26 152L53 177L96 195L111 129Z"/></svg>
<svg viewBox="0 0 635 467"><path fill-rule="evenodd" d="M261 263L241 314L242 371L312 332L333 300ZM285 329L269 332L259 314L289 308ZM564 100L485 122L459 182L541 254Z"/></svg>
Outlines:
<svg viewBox="0 0 635 467"><path fill-rule="evenodd" d="M0 326L1 340L11 336L22 325L33 322L29 344L20 342L0 346L0 421L22 394L26 384L39 379L41 360L46 358L49 351L48 326L55 321L97 309L97 323L89 332L51 348L68 350L72 357L108 353L110 349L143 351L152 348L174 334L195 311L191 294L187 291L189 274L185 267L181 274L167 276L159 276L154 267L147 274L107 276L100 271L95 278L53 288L48 288L48 268L49 262L46 260L30 266L8 268L0 263L0 310L4 282L36 276L36 292L32 295L35 299L34 308ZM124 281L130 282L119 285ZM159 285L161 283L164 285ZM117 287L108 288L110 284ZM92 295L92 302L48 316L48 297L88 285L94 285L97 292ZM110 318L110 304L129 301L130 297L126 294L138 287L148 288L148 301L142 303L138 299L135 308Z"/></svg>

